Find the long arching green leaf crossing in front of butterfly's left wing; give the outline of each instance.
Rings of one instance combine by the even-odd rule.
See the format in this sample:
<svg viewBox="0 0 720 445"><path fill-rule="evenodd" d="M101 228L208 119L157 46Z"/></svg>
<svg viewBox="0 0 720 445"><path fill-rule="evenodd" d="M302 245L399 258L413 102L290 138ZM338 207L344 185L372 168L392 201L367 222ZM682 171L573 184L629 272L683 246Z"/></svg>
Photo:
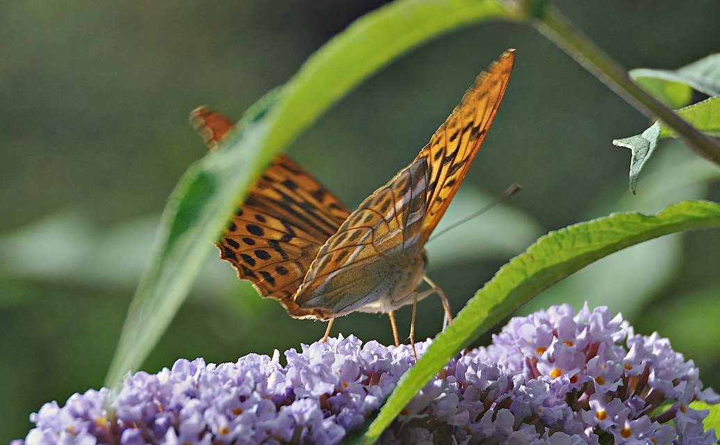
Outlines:
<svg viewBox="0 0 720 445"><path fill-rule="evenodd" d="M191 166L171 194L106 385L116 385L149 354L212 251L210 243L243 199L243 190L280 150L403 53L451 30L498 17L519 19L495 0L395 1L356 20L313 54L282 89L249 109L225 147Z"/></svg>

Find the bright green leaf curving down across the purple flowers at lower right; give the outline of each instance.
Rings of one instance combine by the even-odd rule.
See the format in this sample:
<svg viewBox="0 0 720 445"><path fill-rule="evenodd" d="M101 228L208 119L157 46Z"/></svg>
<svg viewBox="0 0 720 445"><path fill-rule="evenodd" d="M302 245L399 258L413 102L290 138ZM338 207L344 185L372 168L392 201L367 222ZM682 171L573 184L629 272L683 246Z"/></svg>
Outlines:
<svg viewBox="0 0 720 445"><path fill-rule="evenodd" d="M377 441L400 410L447 362L492 325L543 289L603 256L662 235L698 228L720 228L720 204L685 201L657 216L618 213L551 232L501 267L433 340L426 354L402 376L366 433Z"/></svg>

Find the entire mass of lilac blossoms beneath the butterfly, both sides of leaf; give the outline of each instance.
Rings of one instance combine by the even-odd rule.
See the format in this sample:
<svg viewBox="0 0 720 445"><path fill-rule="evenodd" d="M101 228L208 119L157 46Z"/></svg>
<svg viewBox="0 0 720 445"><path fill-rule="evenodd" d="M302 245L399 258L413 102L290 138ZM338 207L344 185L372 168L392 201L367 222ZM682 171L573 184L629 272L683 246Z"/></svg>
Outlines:
<svg viewBox="0 0 720 445"><path fill-rule="evenodd" d="M423 354L430 341L418 343ZM328 339L237 363L178 360L158 374L46 403L12 445L340 444L411 366L410 346ZM402 410L384 444L714 444L718 403L692 361L607 308L513 318L492 345L459 354Z"/></svg>

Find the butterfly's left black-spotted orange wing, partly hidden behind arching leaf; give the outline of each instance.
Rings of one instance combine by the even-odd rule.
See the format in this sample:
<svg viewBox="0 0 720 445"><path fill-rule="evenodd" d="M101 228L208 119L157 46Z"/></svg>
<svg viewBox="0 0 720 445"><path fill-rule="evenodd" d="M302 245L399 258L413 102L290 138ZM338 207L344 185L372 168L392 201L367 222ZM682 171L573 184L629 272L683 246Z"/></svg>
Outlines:
<svg viewBox="0 0 720 445"><path fill-rule="evenodd" d="M229 120L208 109L191 120L209 146L230 130ZM321 317L293 299L320 247L350 212L287 156L278 156L250 189L220 238L220 258L253 283L260 295L279 300L293 317Z"/></svg>

